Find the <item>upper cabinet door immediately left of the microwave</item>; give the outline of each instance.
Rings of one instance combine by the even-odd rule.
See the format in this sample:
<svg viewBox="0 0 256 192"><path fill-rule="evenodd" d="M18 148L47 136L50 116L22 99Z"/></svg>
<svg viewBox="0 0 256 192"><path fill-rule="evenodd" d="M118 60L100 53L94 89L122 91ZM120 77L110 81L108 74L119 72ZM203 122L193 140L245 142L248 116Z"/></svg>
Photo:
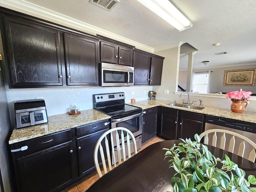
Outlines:
<svg viewBox="0 0 256 192"><path fill-rule="evenodd" d="M97 40L65 34L68 85L98 85L98 45Z"/></svg>

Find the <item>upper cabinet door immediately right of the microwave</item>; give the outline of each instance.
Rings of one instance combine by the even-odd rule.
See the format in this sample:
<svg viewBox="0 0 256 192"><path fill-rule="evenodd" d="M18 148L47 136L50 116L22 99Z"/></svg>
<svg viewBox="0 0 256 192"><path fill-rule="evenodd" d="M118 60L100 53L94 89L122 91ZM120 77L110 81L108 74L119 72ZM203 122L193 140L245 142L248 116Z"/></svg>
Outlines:
<svg viewBox="0 0 256 192"><path fill-rule="evenodd" d="M134 51L133 66L134 66L134 85L148 85L150 56Z"/></svg>

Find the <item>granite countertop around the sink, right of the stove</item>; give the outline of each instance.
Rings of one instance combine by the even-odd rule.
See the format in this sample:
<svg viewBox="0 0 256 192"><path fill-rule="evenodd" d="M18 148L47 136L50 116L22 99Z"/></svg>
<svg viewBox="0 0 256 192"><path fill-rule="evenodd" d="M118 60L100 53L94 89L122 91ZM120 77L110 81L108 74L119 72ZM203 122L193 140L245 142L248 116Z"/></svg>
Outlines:
<svg viewBox="0 0 256 192"><path fill-rule="evenodd" d="M182 107L168 105L169 103L172 103L172 102L174 102L174 101L143 100L143 101L138 101L135 103L128 103L128 104L130 104L132 106L141 107L142 109L146 109L146 108L150 108L150 107L154 107L154 106L164 106L164 107L186 110L186 111L191 111L191 112L196 112L196 113L201 113L201 114L206 114L206 115L212 115L212 116L217 116L217 117L224 117L224 118L229 118L229 119L234 119L234 120L256 123L256 113L255 112L244 111L243 113L234 113L230 109L218 108L218 107L212 107L212 106L203 106L204 109L196 110L196 109L188 109L188 108L182 108ZM182 103L179 103L179 104L182 104ZM198 106L198 105L195 105L195 106Z"/></svg>

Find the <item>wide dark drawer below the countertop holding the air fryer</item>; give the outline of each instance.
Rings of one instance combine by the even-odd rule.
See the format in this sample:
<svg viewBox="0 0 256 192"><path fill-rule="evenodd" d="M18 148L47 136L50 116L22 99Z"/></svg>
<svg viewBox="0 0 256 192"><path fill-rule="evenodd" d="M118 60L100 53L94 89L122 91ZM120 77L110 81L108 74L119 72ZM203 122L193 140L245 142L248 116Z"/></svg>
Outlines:
<svg viewBox="0 0 256 192"><path fill-rule="evenodd" d="M16 156L19 156L19 154L28 154L29 152L38 151L43 148L48 148L50 146L54 146L55 144L58 144L60 142L71 140L71 130L65 130L62 132L57 132L54 134L38 137L35 139L30 139L24 142L18 142L11 145L11 150L20 149L24 146L28 146L27 150L24 151L13 151L15 152Z"/></svg>

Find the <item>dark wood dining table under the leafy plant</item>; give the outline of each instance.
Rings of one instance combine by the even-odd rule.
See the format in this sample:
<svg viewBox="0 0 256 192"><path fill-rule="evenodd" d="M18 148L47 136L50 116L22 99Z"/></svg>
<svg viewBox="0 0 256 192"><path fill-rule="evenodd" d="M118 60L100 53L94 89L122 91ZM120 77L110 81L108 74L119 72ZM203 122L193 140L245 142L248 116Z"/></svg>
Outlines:
<svg viewBox="0 0 256 192"><path fill-rule="evenodd" d="M86 192L173 192L170 180L176 172L174 168L169 168L170 158L164 160L166 150L162 149L171 148L180 142L181 140L165 140L146 147L104 174ZM256 175L256 163L220 148L206 146L220 159L224 159L227 154L230 160L245 171L246 178L250 174Z"/></svg>

